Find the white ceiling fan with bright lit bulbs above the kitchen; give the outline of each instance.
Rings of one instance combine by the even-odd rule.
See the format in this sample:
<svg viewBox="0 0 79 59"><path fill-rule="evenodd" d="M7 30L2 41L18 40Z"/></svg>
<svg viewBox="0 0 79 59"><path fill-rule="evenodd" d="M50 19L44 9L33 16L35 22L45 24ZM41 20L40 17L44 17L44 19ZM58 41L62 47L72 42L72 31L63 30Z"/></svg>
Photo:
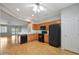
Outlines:
<svg viewBox="0 0 79 59"><path fill-rule="evenodd" d="M35 4L32 4L32 5L28 5L27 7L33 7L33 11L35 13L39 13L41 11L46 11L46 8L44 6L42 6L40 3L35 3Z"/></svg>

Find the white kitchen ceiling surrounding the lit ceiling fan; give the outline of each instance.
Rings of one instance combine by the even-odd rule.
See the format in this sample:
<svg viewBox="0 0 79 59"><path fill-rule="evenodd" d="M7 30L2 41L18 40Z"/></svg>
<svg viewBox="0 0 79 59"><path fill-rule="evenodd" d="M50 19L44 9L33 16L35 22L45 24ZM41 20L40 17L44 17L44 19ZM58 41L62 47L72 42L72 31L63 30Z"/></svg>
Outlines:
<svg viewBox="0 0 79 59"><path fill-rule="evenodd" d="M43 6L46 11L41 11L37 17L37 14L32 10L33 7L28 7L29 5L34 5L34 3L2 3L2 5L14 13L15 16L18 15L22 20L30 19L32 22L46 21L55 16L60 17L60 11L72 4L74 3L41 3L40 5ZM16 8L19 8L20 11L17 11Z"/></svg>

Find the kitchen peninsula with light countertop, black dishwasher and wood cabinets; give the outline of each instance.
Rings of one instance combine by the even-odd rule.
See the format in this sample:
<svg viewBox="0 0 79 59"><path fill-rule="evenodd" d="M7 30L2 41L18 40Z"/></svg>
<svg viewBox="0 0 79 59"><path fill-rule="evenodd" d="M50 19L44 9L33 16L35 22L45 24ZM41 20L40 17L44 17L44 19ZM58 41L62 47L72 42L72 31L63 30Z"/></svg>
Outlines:
<svg viewBox="0 0 79 59"><path fill-rule="evenodd" d="M19 34L19 36L20 36L20 44L38 40L37 33Z"/></svg>

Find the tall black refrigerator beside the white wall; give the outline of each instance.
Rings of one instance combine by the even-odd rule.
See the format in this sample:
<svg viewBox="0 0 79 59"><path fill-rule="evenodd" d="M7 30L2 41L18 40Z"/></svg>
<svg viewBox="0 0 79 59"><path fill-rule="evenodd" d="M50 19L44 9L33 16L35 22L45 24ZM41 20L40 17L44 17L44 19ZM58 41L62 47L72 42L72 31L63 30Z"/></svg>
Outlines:
<svg viewBox="0 0 79 59"><path fill-rule="evenodd" d="M49 44L54 47L61 46L61 25L49 25Z"/></svg>

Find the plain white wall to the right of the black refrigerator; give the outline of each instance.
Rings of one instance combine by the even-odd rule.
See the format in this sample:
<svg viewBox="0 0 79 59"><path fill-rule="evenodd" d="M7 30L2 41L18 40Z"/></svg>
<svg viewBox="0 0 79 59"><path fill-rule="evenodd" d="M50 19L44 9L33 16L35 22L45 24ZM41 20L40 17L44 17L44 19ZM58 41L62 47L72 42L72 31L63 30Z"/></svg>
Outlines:
<svg viewBox="0 0 79 59"><path fill-rule="evenodd" d="M61 47L79 53L79 4L61 12Z"/></svg>

